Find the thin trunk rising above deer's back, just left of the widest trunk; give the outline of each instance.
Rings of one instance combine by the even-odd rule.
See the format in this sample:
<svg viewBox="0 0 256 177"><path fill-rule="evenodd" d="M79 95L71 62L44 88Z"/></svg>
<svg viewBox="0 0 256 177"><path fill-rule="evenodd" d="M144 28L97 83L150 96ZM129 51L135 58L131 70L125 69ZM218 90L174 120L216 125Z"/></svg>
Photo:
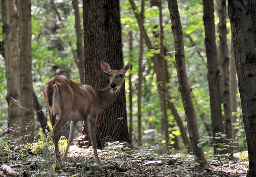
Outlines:
<svg viewBox="0 0 256 177"><path fill-rule="evenodd" d="M75 29L76 29L76 57L74 60L79 70L80 75L80 83L84 84L84 46L82 43L82 27L81 27L81 20L80 20L80 13L78 7L78 0L72 0L72 4L74 7L74 15L75 15Z"/></svg>

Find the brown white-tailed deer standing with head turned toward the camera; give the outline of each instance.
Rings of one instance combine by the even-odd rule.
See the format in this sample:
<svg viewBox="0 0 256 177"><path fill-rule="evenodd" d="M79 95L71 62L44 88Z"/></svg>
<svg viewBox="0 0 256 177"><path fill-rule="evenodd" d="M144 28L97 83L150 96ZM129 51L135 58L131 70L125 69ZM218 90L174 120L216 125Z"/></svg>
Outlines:
<svg viewBox="0 0 256 177"><path fill-rule="evenodd" d="M129 69L130 63L127 63L122 70L112 70L109 64L104 61L101 61L100 66L110 76L110 84L102 90L94 89L90 85L78 84L66 78L66 76L54 76L44 87L44 99L47 103L52 124L56 170L60 169L58 146L60 130L67 121L71 121L68 145L62 157L65 160L69 146L74 139L76 125L80 120L87 121L96 163L103 170L96 147L96 120L100 111L116 99L120 88L124 84L124 75Z"/></svg>

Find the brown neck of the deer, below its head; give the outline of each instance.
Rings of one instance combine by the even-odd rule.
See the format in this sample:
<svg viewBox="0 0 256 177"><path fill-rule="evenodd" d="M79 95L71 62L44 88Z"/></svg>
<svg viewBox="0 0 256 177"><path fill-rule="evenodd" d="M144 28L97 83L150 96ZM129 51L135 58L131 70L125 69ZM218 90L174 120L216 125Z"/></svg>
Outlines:
<svg viewBox="0 0 256 177"><path fill-rule="evenodd" d="M116 96L118 95L120 89L116 90L115 93L112 92L112 88L108 85L106 88L97 90L99 101L102 104L102 109L108 107L111 103L114 102Z"/></svg>

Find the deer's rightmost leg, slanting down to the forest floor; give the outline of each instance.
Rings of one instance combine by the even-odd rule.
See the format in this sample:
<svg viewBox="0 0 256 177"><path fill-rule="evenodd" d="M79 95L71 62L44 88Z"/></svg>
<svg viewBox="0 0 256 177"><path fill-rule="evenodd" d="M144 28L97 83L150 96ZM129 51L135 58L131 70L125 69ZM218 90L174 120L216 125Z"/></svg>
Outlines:
<svg viewBox="0 0 256 177"><path fill-rule="evenodd" d="M90 138L91 138L92 148L93 148L93 151L94 151L94 156L95 156L96 163L98 164L99 168L103 171L103 168L100 164L100 159L98 157L98 152L97 152L96 116L95 117L88 117L87 125L88 125L89 135L90 135Z"/></svg>

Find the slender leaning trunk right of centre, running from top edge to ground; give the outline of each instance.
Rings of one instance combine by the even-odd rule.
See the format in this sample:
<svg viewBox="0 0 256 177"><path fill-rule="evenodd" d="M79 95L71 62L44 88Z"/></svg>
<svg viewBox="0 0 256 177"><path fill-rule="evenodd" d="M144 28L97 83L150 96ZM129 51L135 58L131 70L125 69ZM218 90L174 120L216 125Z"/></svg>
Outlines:
<svg viewBox="0 0 256 177"><path fill-rule="evenodd" d="M198 122L196 119L196 112L192 101L191 88L188 84L188 77L186 74L184 42L182 34L182 26L180 22L180 14L178 10L177 0L167 0L168 9L172 21L172 33L174 37L175 61L177 66L178 83L180 86L180 93L186 120L188 123L188 133L190 136L190 143L193 154L200 160L200 167L209 167L209 164L204 155L204 150L198 147L198 140L200 139Z"/></svg>

